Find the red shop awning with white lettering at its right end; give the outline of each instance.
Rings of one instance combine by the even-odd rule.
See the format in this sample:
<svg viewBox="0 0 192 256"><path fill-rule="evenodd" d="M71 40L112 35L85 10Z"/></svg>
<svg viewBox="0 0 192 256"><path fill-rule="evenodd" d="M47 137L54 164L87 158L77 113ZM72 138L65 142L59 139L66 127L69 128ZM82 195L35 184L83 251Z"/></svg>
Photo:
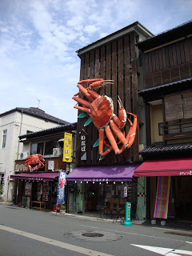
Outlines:
<svg viewBox="0 0 192 256"><path fill-rule="evenodd" d="M189 175L192 175L192 158L149 160L134 170L134 177Z"/></svg>

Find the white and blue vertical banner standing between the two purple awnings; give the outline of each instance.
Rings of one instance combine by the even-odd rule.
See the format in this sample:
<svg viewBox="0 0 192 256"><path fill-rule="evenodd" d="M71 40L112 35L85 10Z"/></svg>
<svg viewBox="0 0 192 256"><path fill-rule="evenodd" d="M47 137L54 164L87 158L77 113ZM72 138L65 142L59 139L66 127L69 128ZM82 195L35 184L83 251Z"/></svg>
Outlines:
<svg viewBox="0 0 192 256"><path fill-rule="evenodd" d="M66 172L58 171L58 196L57 196L57 206L63 205L65 203L65 185L66 185Z"/></svg>

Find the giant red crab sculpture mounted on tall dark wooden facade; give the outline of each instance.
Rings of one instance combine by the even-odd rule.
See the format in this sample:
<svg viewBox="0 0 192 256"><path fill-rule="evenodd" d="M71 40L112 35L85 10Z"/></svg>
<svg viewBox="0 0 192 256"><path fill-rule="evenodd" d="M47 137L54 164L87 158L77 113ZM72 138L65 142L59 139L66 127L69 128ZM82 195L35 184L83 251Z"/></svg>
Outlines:
<svg viewBox="0 0 192 256"><path fill-rule="evenodd" d="M78 89L83 95L86 96L90 102L81 98L80 92L78 92L78 94L74 94L73 97L73 99L78 102L74 108L86 112L94 122L94 126L98 128L98 153L102 157L104 157L106 154L109 154L111 150L114 150L115 154L121 154L126 149L126 147L130 148L130 146L132 146L134 143L138 122L136 114L128 113L134 116L134 123L132 123L130 119L127 118L126 110L122 106L122 101L119 97L118 118L114 114L114 103L112 98L106 95L101 96L93 90L102 86L106 86L108 83L112 83L112 80L103 80L102 78L82 80L78 82ZM88 86L87 88L82 86L85 84ZM130 122L130 130L125 137L125 132L122 130L126 125L126 119ZM106 143L105 132L110 144ZM118 137L119 142L116 142L113 133ZM121 150L118 148L120 143L123 144ZM104 146L107 146L107 150L103 152Z"/></svg>

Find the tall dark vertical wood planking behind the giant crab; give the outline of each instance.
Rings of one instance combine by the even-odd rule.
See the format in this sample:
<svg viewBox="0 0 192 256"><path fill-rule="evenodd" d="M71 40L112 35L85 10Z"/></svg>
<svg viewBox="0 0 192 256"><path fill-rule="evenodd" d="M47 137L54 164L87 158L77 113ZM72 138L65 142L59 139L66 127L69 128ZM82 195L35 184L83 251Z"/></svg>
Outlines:
<svg viewBox="0 0 192 256"><path fill-rule="evenodd" d="M134 114L138 114L138 73L135 42L135 34L132 33L81 55L80 80L88 78L114 80L113 85L107 85L106 88L101 88L98 92L106 94L113 99L114 114L117 115L118 95L122 99L126 112L133 111ZM98 129L94 127L93 123L89 126L84 126L86 119L78 118L76 157L78 166L126 163L138 160L137 134L134 145L129 150L126 149L120 155L115 155L114 152L111 152L106 158L99 161L98 147L93 148L94 142L98 139ZM134 121L133 118L131 119ZM87 133L86 160L81 160L80 158L82 129ZM129 129L130 126L127 122L126 134Z"/></svg>

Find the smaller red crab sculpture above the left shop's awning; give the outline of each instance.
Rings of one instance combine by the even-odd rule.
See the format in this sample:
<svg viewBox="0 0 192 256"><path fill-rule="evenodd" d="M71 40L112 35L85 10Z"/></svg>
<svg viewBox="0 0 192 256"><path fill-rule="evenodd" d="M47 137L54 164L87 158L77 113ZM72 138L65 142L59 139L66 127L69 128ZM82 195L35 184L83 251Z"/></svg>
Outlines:
<svg viewBox="0 0 192 256"><path fill-rule="evenodd" d="M26 158L25 166L30 169L30 171L38 170L44 167L45 159L42 154L33 154Z"/></svg>

